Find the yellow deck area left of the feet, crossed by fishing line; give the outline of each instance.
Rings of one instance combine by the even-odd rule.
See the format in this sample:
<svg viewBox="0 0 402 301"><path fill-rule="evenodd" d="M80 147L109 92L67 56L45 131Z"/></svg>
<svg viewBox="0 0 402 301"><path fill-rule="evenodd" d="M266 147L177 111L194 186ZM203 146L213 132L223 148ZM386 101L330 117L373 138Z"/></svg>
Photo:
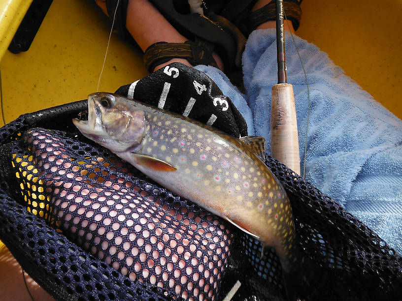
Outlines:
<svg viewBox="0 0 402 301"><path fill-rule="evenodd" d="M30 49L1 60L5 121L95 92L109 32L95 1L54 0ZM114 92L147 74L139 52L112 34L99 90Z"/></svg>

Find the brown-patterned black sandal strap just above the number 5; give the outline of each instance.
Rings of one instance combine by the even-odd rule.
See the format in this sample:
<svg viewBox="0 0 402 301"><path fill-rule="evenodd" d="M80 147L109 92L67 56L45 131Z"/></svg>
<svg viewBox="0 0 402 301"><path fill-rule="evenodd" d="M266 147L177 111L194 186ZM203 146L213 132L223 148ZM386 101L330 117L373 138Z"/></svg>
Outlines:
<svg viewBox="0 0 402 301"><path fill-rule="evenodd" d="M192 65L210 65L218 67L212 57L213 46L208 42L186 41L184 43L158 42L149 46L142 60L149 72L154 72L157 65L168 60L180 58L188 60Z"/></svg>

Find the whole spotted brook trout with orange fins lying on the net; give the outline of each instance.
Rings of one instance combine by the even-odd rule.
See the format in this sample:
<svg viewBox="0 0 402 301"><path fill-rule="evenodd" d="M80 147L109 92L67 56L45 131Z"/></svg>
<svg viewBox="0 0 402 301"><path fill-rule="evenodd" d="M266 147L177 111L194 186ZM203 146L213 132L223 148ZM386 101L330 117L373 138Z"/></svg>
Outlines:
<svg viewBox="0 0 402 301"><path fill-rule="evenodd" d="M234 138L201 122L117 94L88 96L88 120L72 122L170 191L275 249L289 300L302 258L290 201L264 163L263 137Z"/></svg>

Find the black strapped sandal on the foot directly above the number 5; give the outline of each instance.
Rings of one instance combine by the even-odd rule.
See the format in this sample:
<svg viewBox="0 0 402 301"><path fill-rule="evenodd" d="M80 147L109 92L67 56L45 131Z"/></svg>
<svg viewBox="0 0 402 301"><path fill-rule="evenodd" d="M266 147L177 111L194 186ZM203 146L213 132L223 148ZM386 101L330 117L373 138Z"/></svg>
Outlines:
<svg viewBox="0 0 402 301"><path fill-rule="evenodd" d="M115 29L126 41L135 43L126 28L127 5L129 0L121 0L117 8ZM241 66L241 54L246 38L237 28L225 18L204 9L202 16L190 13L187 1L149 0L167 21L190 41L185 43L156 43L151 45L144 55L144 61L150 72L153 67L172 58L184 58L192 64L207 64L216 66L212 52L216 52L223 61L225 71ZM175 3L180 5L175 6ZM109 18L113 19L117 0L106 0ZM135 43L135 45L137 45Z"/></svg>

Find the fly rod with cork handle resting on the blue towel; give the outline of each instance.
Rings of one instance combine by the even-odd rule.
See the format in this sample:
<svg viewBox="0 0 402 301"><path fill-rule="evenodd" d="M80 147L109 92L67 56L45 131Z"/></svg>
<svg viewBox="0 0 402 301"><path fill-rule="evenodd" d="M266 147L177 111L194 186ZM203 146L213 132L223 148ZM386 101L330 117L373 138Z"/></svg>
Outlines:
<svg viewBox="0 0 402 301"><path fill-rule="evenodd" d="M287 83L283 0L276 0L278 84L272 87L271 156L300 175L299 135L293 86Z"/></svg>

